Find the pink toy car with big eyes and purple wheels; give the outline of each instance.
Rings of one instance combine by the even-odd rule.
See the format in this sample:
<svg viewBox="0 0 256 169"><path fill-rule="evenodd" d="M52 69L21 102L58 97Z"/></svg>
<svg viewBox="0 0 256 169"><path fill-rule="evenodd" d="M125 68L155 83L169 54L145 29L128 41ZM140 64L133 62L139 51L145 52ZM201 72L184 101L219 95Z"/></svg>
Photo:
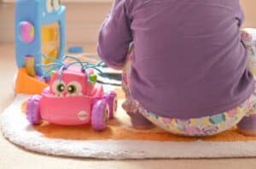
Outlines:
<svg viewBox="0 0 256 169"><path fill-rule="evenodd" d="M116 110L117 94L104 93L93 70L59 70L41 95L28 99L26 118L32 125L45 120L67 126L91 124L102 131Z"/></svg>

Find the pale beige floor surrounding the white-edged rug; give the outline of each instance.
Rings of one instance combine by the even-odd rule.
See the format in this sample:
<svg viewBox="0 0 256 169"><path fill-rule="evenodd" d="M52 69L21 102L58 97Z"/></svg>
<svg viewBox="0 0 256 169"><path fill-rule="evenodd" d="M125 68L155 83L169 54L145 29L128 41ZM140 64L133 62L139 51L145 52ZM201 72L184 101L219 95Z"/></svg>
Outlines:
<svg viewBox="0 0 256 169"><path fill-rule="evenodd" d="M90 45L89 45L90 46ZM90 46L90 51L95 48ZM15 50L12 44L0 43L0 112L15 98L12 84L16 72ZM0 113L1 114L1 113ZM15 117L14 117L15 118ZM163 149L164 150L164 149ZM29 168L170 168L170 169L249 169L256 167L256 159L218 159L218 160L145 160L145 161L96 161L90 159L61 158L38 155L20 149L9 143L0 134L0 168L29 169Z"/></svg>

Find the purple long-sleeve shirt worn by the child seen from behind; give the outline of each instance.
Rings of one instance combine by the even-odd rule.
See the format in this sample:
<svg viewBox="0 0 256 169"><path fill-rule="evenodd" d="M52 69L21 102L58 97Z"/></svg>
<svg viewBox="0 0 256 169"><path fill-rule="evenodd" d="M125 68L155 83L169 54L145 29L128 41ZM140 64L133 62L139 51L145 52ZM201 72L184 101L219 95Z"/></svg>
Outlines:
<svg viewBox="0 0 256 169"><path fill-rule="evenodd" d="M121 68L134 42L131 95L156 115L216 115L253 93L239 0L116 0L98 53Z"/></svg>

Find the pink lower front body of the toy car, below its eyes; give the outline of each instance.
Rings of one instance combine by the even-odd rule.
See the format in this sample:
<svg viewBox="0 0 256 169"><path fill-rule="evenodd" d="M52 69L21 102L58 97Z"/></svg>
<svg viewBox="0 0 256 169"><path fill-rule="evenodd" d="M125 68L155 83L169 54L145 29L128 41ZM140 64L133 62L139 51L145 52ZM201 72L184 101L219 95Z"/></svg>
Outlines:
<svg viewBox="0 0 256 169"><path fill-rule="evenodd" d="M40 113L42 119L59 125L81 125L90 123L91 109L97 100L102 99L101 85L91 96L55 97L42 94Z"/></svg>

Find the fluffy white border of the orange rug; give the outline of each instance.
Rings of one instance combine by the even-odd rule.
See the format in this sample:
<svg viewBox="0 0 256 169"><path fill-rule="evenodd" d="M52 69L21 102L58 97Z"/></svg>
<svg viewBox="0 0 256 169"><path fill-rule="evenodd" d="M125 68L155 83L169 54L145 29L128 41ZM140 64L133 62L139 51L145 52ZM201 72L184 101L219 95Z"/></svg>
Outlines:
<svg viewBox="0 0 256 169"><path fill-rule="evenodd" d="M20 98L26 98L22 95ZM13 125L7 121L12 118L10 107L15 101L3 111L0 119L0 125L4 138L10 142L22 147L46 155L60 155L70 157L84 157L96 159L185 159L185 158L228 158L228 157L255 157L255 141L237 141L237 142L160 142L160 141L141 141L137 140L90 140L73 141L49 138L26 138L22 132L12 130ZM14 132L13 132L14 131ZM50 144L50 145L49 145ZM62 144L61 149L55 149L56 145ZM71 146L72 144L72 146ZM125 147L125 149L124 149ZM148 149L150 147L150 149ZM239 149L239 147L242 149ZM81 151L78 150L82 149ZM159 150L160 149L160 150ZM161 151L165 149L165 151Z"/></svg>

